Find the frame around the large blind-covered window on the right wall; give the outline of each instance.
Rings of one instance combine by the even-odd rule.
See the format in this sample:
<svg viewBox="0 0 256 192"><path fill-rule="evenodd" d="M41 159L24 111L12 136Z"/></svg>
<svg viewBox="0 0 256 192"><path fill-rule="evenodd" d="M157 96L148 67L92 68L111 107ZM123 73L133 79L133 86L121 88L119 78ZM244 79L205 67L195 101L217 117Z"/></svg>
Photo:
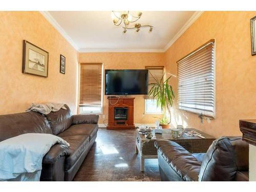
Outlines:
<svg viewBox="0 0 256 192"><path fill-rule="evenodd" d="M213 86L214 86L214 109L213 109L213 114L212 115L208 115L208 114L203 114L202 112L196 112L194 110L187 110L187 109L180 109L180 105L179 105L179 99L177 99L177 109L178 110L181 110L181 111L184 111L184 112L189 112L189 113L192 113L192 114L196 114L196 115L202 115L202 116L205 116L205 117L209 117L209 118L212 118L212 119L216 119L216 41L215 39L210 39L209 41L207 41L205 44L203 44L202 46L200 46L199 48L197 48L196 50L190 52L189 54L187 54L186 56L184 56L183 58L179 59L176 64L177 64L177 75L178 74L178 62L180 62L181 60L189 57L190 55L193 55L194 53L196 53L197 51L199 51L200 49L203 49L204 47L206 47L207 45L209 45L210 43L213 44L213 61L212 61L212 65L213 65L213 77L214 77L214 80L213 80ZM178 76L177 76L178 77ZM179 87L179 81L177 79L177 89ZM178 93L178 90L177 90L177 96L179 97L179 93Z"/></svg>

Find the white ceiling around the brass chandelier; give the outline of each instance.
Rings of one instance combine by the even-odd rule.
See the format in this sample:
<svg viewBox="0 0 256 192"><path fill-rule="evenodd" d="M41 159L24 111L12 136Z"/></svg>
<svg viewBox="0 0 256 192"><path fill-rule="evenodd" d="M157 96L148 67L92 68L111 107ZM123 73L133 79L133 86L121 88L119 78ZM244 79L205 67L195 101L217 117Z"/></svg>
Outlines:
<svg viewBox="0 0 256 192"><path fill-rule="evenodd" d="M164 52L201 15L195 11L142 11L136 23L154 26L127 30L112 22L111 11L41 12L79 52ZM132 11L136 15L136 11Z"/></svg>

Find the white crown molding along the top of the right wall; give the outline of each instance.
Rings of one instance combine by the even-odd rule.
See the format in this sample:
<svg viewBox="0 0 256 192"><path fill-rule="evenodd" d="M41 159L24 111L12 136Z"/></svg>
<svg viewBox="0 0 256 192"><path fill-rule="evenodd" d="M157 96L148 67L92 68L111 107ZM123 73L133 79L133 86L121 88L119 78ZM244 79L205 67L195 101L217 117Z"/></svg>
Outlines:
<svg viewBox="0 0 256 192"><path fill-rule="evenodd" d="M164 47L163 51L166 52L170 46L172 46L176 40L180 38L180 36L192 25L194 22L202 15L204 11L196 11L185 23L185 25L180 29L180 31L168 42L168 44Z"/></svg>

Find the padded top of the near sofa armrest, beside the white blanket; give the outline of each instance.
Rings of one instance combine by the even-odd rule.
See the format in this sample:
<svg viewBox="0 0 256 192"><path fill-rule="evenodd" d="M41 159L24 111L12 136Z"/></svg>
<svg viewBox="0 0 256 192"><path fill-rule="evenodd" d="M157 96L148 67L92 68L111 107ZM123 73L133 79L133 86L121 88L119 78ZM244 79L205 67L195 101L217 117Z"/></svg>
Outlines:
<svg viewBox="0 0 256 192"><path fill-rule="evenodd" d="M61 144L53 145L42 159L43 164L53 164L63 156L70 155L69 147Z"/></svg>

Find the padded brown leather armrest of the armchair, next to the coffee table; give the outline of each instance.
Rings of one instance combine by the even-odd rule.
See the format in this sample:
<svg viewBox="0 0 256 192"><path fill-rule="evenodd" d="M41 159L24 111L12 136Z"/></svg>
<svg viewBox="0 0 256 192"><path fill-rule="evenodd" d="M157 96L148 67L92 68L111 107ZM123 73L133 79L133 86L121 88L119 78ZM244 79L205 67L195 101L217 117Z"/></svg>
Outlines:
<svg viewBox="0 0 256 192"><path fill-rule="evenodd" d="M163 159L184 181L198 181L201 162L174 141L158 140L155 147Z"/></svg>

